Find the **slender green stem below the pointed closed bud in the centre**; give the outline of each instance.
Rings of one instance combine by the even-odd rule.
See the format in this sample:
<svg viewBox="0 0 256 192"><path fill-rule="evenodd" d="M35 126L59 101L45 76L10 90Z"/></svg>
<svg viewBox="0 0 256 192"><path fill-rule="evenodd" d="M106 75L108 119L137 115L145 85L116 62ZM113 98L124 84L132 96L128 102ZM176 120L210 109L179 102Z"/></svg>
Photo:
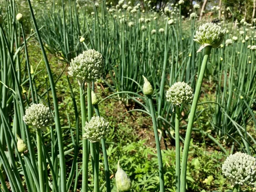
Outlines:
<svg viewBox="0 0 256 192"><path fill-rule="evenodd" d="M154 136L155 136L156 146L157 146L157 159L158 159L158 166L159 166L160 192L164 192L163 161L162 161L160 142L159 142L159 137L158 137L158 132L157 132L157 121L156 121L156 116L155 116L155 112L154 112L154 105L153 105L151 95L148 95L148 102L149 102L149 106L150 106L153 128L154 128Z"/></svg>

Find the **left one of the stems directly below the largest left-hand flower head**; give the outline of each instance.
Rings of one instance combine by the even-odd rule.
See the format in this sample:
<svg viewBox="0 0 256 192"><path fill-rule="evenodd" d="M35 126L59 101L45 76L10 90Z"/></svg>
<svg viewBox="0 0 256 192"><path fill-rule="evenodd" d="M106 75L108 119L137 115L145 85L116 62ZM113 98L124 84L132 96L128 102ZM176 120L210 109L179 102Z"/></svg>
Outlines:
<svg viewBox="0 0 256 192"><path fill-rule="evenodd" d="M86 122L86 108L85 108L85 98L84 90L80 88L80 102L81 102L81 119L82 119L82 134L84 134L84 126ZM82 192L88 192L88 140L83 139L83 165L82 165Z"/></svg>

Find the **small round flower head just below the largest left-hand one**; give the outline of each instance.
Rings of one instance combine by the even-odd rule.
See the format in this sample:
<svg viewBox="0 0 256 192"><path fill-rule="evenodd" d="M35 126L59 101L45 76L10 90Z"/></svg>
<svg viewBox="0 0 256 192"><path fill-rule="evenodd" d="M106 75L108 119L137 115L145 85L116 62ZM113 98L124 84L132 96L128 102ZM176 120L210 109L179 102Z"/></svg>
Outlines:
<svg viewBox="0 0 256 192"><path fill-rule="evenodd" d="M109 133L109 122L103 117L93 116L89 122L85 122L83 138L90 142L99 142Z"/></svg>

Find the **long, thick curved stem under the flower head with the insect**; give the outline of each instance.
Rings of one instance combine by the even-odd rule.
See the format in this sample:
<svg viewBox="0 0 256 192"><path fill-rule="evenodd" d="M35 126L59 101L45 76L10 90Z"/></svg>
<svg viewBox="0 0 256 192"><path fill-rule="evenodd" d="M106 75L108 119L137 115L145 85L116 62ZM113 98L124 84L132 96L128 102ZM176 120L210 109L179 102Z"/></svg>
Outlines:
<svg viewBox="0 0 256 192"><path fill-rule="evenodd" d="M195 87L195 95L192 102L191 111L189 113L189 122L187 126L186 131L186 137L184 142L184 149L183 149L183 156L182 156L182 162L181 162L181 172L180 172L180 192L186 192L186 166L187 166L187 160L188 160L188 154L189 154L189 143L191 139L191 132L192 132L192 126L195 119L195 111L198 104L198 99L201 92L201 87L204 79L204 72L206 68L206 64L210 55L212 47L207 46L205 47L204 52L204 59L201 65L201 70L198 76L198 81Z"/></svg>

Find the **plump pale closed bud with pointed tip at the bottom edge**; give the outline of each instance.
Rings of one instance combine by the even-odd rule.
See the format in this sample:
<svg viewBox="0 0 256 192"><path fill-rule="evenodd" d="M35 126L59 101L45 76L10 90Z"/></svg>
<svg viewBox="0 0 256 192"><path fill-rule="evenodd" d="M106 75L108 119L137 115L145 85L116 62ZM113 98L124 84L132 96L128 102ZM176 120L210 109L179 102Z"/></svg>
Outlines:
<svg viewBox="0 0 256 192"><path fill-rule="evenodd" d="M125 192L131 189L131 179L125 173L124 170L120 167L120 160L117 163L117 171L116 171L116 188L120 192Z"/></svg>

